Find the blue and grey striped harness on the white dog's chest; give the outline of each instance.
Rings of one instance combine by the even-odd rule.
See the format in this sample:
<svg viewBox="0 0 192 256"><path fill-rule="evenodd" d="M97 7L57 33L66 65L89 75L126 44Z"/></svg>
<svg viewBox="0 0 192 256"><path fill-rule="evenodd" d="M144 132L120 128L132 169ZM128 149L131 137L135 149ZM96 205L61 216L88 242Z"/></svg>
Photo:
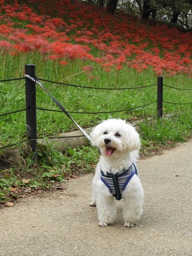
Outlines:
<svg viewBox="0 0 192 256"><path fill-rule="evenodd" d="M138 175L138 169L137 165L133 163L122 174L113 175L107 173L107 175L104 175L101 170L101 181L109 188L116 200L121 200L123 190L135 174Z"/></svg>

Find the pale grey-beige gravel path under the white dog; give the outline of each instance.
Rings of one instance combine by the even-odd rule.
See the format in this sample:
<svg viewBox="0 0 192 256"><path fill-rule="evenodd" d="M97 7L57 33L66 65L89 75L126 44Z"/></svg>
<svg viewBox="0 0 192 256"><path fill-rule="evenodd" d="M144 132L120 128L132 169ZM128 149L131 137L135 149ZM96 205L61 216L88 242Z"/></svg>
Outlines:
<svg viewBox="0 0 192 256"><path fill-rule="evenodd" d="M192 141L138 161L144 213L125 228L122 200L113 225L99 227L90 207L93 174L64 191L0 210L0 255L192 255Z"/></svg>

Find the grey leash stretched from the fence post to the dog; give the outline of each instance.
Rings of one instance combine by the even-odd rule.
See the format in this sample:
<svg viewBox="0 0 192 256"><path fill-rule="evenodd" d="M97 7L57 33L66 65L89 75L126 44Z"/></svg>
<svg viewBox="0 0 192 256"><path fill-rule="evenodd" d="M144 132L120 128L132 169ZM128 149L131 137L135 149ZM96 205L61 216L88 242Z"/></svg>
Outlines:
<svg viewBox="0 0 192 256"><path fill-rule="evenodd" d="M63 113L65 113L74 123L75 125L78 127L78 129L81 131L81 133L86 136L86 138L91 142L91 137L86 133L86 131L84 131L82 129L82 127L70 116L70 114L63 108L63 106L58 102L58 100L56 100L55 97L53 97L51 95L50 92L48 92L48 90L42 85L42 83L39 81L39 79L35 76L35 77L32 77L32 76L29 76L29 75L26 75L25 74L25 77L31 79L32 81L34 81L35 83L38 83L39 86L44 89L44 91L52 98L52 100L55 102L55 104L59 107L60 110L62 110Z"/></svg>

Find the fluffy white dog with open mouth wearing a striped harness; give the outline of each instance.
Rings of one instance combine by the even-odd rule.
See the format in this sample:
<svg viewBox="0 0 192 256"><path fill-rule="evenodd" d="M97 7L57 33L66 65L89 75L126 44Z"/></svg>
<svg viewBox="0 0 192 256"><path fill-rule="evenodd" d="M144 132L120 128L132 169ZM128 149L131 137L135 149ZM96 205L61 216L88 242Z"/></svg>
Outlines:
<svg viewBox="0 0 192 256"><path fill-rule="evenodd" d="M143 212L143 188L135 161L140 148L139 134L121 119L109 119L98 124L91 133L92 145L99 147L101 156L93 179L90 206L97 206L98 225L114 222L117 200L123 198L125 227L133 227Z"/></svg>

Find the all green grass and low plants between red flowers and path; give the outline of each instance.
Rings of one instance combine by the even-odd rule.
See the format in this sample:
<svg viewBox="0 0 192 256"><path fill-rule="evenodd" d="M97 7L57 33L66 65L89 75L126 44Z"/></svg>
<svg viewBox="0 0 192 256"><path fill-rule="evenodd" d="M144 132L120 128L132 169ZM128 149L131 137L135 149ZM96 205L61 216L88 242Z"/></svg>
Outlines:
<svg viewBox="0 0 192 256"><path fill-rule="evenodd" d="M51 79L52 75L59 73L50 63L49 72L45 67L36 67L36 75L41 78ZM46 63L48 65L48 63ZM23 67L24 68L24 67ZM52 70L53 69L53 70ZM123 72L124 71L124 72ZM100 88L127 88L144 87L148 84L157 83L157 77L152 71L136 74L135 71L120 73L113 71L103 73L95 71L97 80L89 80L86 73L65 77L66 83L79 84ZM117 80L118 83L115 81ZM56 79L56 76L53 75ZM8 78L8 77L7 77ZM62 80L63 78L59 78ZM59 81L59 79L57 81ZM175 77L164 77L164 83L175 88L190 88L191 84L184 75ZM43 82L44 86L68 111L79 112L110 112L126 110L153 102L157 98L157 87L148 87L135 90L108 91L74 88ZM25 108L25 80L1 83L1 108L2 113ZM190 91L180 91L164 87L164 100L176 103L191 101ZM37 85L37 106L45 109L58 109L52 99ZM191 104L175 105L163 103L162 120L156 119L156 103L144 108L106 114L71 114L82 127L94 126L107 118L122 118L130 122L139 122L139 133L141 135L141 155L148 155L161 147L174 146L176 142L186 141L191 136ZM151 118L152 121L145 121ZM1 150L0 173L0 201L11 200L19 196L15 187L26 187L31 189L48 188L56 183L65 182L70 177L76 177L84 173L94 171L99 153L96 148L68 148L64 154L55 150L54 145L38 145L38 166L33 166L30 156L25 155L25 143L19 141L26 138L25 112L3 116L0 119L1 145L16 142L22 153L22 164L16 165L6 157L6 150ZM49 136L57 136L59 133L77 129L74 123L63 113L37 110L37 133L45 140ZM7 164L6 164L7 163ZM27 180L27 182L26 182ZM25 181L25 182L24 182ZM18 194L17 194L18 193Z"/></svg>

